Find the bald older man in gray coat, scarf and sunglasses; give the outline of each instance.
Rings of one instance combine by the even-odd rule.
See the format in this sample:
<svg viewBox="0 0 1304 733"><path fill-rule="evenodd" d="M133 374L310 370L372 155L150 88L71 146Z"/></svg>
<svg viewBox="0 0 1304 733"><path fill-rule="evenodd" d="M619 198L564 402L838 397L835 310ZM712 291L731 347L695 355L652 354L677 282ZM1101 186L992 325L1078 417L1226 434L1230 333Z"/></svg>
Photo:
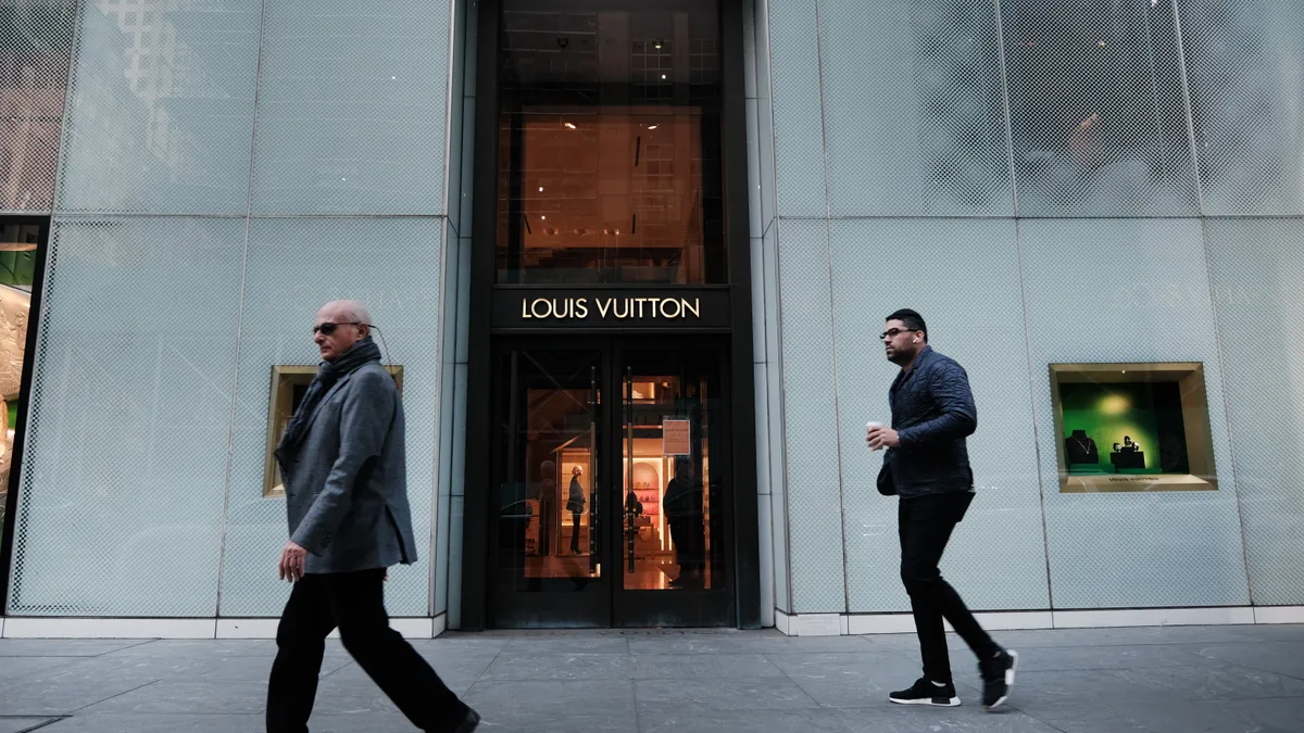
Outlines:
<svg viewBox="0 0 1304 733"><path fill-rule="evenodd" d="M308 733L326 636L336 627L417 728L469 733L480 723L385 612L387 569L416 562L416 543L403 404L370 330L357 303L322 307L313 326L322 364L276 447L289 518L279 574L293 590L276 630L269 733Z"/></svg>

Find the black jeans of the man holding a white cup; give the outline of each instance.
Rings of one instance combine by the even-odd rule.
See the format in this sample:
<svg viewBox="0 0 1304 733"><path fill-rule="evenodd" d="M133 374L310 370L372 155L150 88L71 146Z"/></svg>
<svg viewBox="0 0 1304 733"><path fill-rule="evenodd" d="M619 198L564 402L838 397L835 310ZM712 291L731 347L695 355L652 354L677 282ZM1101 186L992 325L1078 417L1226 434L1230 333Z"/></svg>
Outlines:
<svg viewBox="0 0 1304 733"><path fill-rule="evenodd" d="M902 498L897 509L901 533L901 582L910 593L914 626L923 655L923 676L934 682L951 682L951 657L941 620L955 627L978 659L996 656L1000 647L983 631L960 593L941 579L938 563L956 528L969 510L971 492L927 494Z"/></svg>

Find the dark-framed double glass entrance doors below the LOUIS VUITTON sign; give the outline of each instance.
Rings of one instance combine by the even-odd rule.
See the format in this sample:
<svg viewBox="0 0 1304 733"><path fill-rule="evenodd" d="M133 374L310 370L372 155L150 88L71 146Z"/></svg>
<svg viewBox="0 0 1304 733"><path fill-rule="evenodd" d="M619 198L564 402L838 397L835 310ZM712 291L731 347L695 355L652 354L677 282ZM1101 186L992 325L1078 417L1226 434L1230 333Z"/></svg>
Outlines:
<svg viewBox="0 0 1304 733"><path fill-rule="evenodd" d="M724 350L557 340L496 355L493 625L733 625Z"/></svg>

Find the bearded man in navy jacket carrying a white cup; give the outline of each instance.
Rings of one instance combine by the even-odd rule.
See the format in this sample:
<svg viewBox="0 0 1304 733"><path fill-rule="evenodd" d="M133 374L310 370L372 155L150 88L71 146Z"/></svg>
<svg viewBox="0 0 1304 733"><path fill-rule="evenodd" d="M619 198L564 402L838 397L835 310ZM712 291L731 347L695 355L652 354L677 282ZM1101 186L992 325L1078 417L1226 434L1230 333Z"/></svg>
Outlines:
<svg viewBox="0 0 1304 733"><path fill-rule="evenodd" d="M983 631L938 570L956 524L974 498L973 470L965 438L978 426L969 376L956 361L928 347L928 330L914 310L888 316L882 335L888 361L901 366L888 402L892 426L871 426L871 450L887 447L887 490L900 496L897 531L901 537L901 580L910 595L923 677L908 690L892 693L901 704L957 706L947 655L945 618L978 655L983 680L982 704L994 710L1009 698L1017 655L1003 650Z"/></svg>

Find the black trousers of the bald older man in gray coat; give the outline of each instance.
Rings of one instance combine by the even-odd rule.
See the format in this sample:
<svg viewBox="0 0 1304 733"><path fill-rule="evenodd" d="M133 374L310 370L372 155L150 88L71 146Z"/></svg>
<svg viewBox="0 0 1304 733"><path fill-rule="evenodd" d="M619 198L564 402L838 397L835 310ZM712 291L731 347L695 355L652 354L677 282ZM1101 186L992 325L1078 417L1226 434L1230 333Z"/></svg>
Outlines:
<svg viewBox="0 0 1304 733"><path fill-rule="evenodd" d="M446 730L466 716L467 706L390 629L383 569L312 574L295 583L276 629L267 733L308 733L326 636L336 626L348 653L413 725Z"/></svg>

